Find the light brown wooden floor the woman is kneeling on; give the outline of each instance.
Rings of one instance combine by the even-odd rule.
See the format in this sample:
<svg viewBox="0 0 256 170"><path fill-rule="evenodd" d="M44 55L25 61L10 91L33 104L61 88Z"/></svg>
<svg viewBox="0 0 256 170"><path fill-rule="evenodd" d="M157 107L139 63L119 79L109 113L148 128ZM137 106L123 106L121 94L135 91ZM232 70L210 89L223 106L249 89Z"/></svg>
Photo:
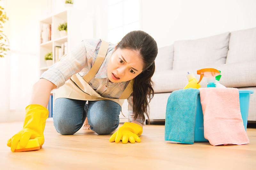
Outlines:
<svg viewBox="0 0 256 170"><path fill-rule="evenodd" d="M80 129L63 136L46 121L43 148L11 152L8 138L23 123L0 123L0 169L256 169L256 129L248 128L246 145L212 146L209 143L178 144L164 141L164 125L146 125L141 143L118 144L110 135ZM122 124L120 124L122 125Z"/></svg>

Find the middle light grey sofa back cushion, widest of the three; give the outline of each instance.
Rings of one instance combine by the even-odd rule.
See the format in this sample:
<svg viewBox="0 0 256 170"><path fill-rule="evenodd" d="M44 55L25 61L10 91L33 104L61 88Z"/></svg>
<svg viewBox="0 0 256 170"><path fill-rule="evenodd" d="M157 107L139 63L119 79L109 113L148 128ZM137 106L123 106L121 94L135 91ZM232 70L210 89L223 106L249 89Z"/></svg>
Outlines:
<svg viewBox="0 0 256 170"><path fill-rule="evenodd" d="M230 33L174 42L173 70L225 64Z"/></svg>

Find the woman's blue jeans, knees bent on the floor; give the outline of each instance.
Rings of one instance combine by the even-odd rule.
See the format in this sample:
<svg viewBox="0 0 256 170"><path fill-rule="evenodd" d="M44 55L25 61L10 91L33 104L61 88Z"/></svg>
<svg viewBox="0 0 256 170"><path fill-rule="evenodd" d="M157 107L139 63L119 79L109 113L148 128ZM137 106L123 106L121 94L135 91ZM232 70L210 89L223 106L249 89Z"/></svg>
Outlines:
<svg viewBox="0 0 256 170"><path fill-rule="evenodd" d="M121 106L110 100L88 101L58 98L54 102L53 124L58 133L72 135L84 124L87 116L91 130L100 135L115 131Z"/></svg>

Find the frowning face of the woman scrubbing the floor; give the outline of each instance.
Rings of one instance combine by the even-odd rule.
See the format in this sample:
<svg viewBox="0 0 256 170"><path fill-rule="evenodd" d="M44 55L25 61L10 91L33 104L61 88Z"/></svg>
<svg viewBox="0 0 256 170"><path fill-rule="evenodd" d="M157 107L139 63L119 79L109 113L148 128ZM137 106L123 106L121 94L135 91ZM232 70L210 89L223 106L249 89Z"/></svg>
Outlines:
<svg viewBox="0 0 256 170"><path fill-rule="evenodd" d="M108 61L108 79L114 83L129 81L142 72L143 62L139 53L116 49Z"/></svg>

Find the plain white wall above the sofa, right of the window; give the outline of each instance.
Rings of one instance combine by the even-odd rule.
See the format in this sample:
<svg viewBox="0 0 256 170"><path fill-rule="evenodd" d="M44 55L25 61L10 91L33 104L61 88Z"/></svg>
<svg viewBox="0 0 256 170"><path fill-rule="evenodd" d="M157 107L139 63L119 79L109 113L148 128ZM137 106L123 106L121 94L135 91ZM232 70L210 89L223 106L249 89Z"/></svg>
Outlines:
<svg viewBox="0 0 256 170"><path fill-rule="evenodd" d="M142 30L158 44L256 27L255 0L141 0Z"/></svg>

